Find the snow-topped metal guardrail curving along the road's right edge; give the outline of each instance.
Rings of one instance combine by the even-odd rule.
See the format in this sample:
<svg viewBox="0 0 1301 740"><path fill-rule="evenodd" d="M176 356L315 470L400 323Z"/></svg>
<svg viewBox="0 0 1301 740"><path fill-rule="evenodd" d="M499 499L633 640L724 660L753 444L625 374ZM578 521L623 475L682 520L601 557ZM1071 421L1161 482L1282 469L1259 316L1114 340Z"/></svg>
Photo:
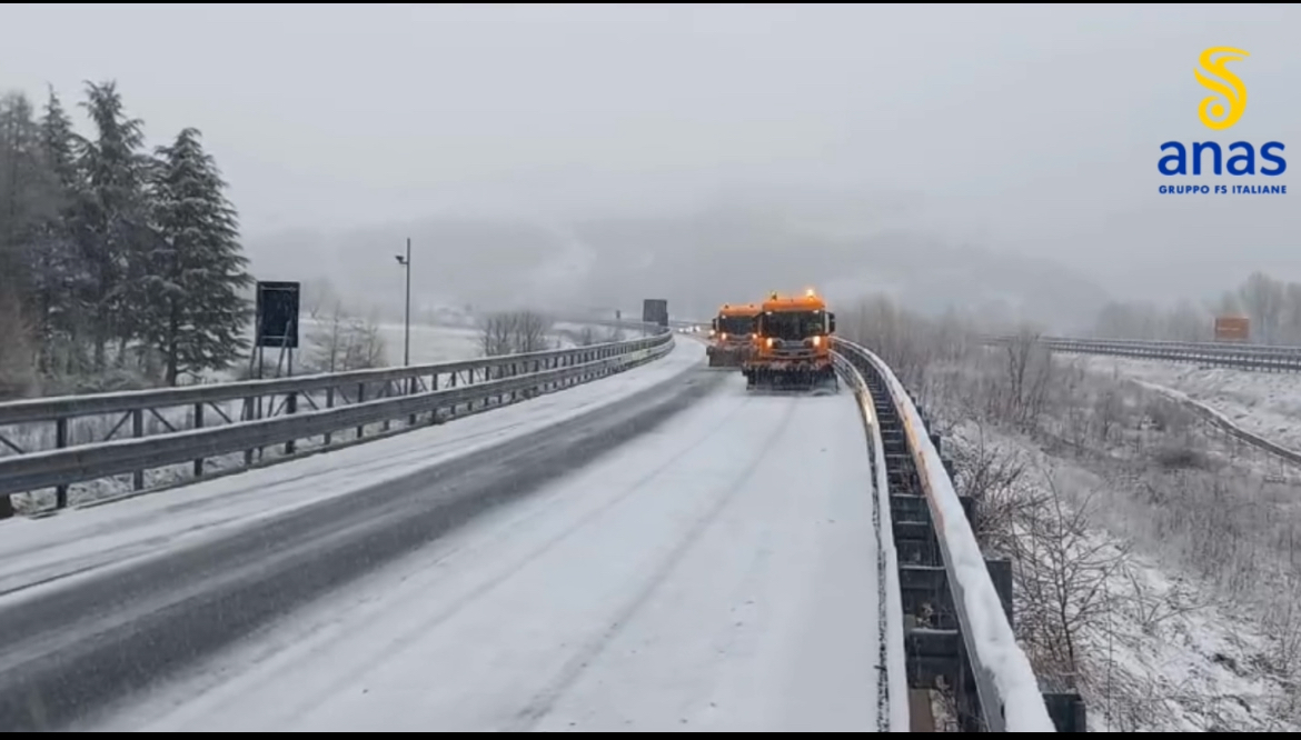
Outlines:
<svg viewBox="0 0 1301 740"><path fill-rule="evenodd" d="M947 601L958 622L961 642L958 653L974 679L981 723L990 732L1056 732L1038 679L1016 644L1004 600L994 585L963 503L916 404L894 372L870 350L840 338L833 347L863 377L878 380L879 393L892 407L891 415L902 423L911 469L920 482L938 542ZM891 498L894 494L891 489ZM900 566L900 571L904 567ZM912 576L929 571L925 566L907 568L917 571L909 574ZM900 572L900 581L904 580Z"/></svg>

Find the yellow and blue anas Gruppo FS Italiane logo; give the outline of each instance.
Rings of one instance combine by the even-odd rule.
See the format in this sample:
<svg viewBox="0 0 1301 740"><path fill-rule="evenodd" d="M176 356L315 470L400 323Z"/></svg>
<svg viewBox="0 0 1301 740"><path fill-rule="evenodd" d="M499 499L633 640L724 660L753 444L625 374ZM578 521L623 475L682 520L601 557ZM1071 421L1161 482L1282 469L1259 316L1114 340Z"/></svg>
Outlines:
<svg viewBox="0 0 1301 740"><path fill-rule="evenodd" d="M1213 131L1224 131L1237 125L1246 112L1246 85L1224 65L1239 62L1250 55L1233 47L1211 47L1197 57L1193 77L1197 83L1211 91L1197 105L1197 117ZM1166 142L1160 144L1164 156L1157 163L1157 169L1166 177L1202 177L1203 169L1222 177L1278 177L1287 172L1288 163L1283 159L1281 142L1266 142L1257 148L1252 142ZM1259 161L1257 161L1259 160ZM1206 166L1209 165L1209 166ZM1189 172L1189 169L1192 172ZM1163 194L1244 194L1244 195L1285 195L1285 185L1162 185Z"/></svg>

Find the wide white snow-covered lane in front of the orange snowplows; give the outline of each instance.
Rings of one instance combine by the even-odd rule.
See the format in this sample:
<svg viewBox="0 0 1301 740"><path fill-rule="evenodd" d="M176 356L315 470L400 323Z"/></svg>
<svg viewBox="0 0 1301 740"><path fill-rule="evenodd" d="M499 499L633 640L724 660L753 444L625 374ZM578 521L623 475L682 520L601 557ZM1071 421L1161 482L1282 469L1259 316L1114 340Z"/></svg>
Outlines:
<svg viewBox="0 0 1301 740"><path fill-rule="evenodd" d="M742 384L103 730L874 731L859 411Z"/></svg>

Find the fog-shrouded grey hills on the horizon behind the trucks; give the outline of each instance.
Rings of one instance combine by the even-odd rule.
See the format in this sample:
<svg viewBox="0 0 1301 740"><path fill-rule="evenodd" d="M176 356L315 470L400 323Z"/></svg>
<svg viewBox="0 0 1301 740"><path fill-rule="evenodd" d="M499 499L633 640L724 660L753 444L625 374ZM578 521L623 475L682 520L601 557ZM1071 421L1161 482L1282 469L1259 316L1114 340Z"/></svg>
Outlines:
<svg viewBox="0 0 1301 740"><path fill-rule="evenodd" d="M661 297L674 315L708 316L723 302L817 287L840 303L887 293L928 313L978 308L1076 326L1107 299L1089 277L1051 260L908 226L916 220L908 196L873 198L872 208L847 200L745 194L678 213L448 216L269 234L250 238L248 248L263 278L327 276L351 302L388 312L402 306L393 255L407 235L416 307L636 310L641 298Z"/></svg>

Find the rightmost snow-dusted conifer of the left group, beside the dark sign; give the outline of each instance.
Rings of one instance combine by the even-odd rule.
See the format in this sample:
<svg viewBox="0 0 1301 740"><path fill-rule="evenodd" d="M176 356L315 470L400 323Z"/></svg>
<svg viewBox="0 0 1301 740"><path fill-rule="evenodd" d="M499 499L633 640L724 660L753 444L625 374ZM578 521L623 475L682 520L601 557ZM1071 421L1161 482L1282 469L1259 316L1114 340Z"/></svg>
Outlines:
<svg viewBox="0 0 1301 740"><path fill-rule="evenodd" d="M154 179L154 228L147 273L152 315L146 341L164 358L167 382L181 373L229 367L248 341L242 337L252 284L239 244L238 216L226 183L200 134L185 129L159 147Z"/></svg>

